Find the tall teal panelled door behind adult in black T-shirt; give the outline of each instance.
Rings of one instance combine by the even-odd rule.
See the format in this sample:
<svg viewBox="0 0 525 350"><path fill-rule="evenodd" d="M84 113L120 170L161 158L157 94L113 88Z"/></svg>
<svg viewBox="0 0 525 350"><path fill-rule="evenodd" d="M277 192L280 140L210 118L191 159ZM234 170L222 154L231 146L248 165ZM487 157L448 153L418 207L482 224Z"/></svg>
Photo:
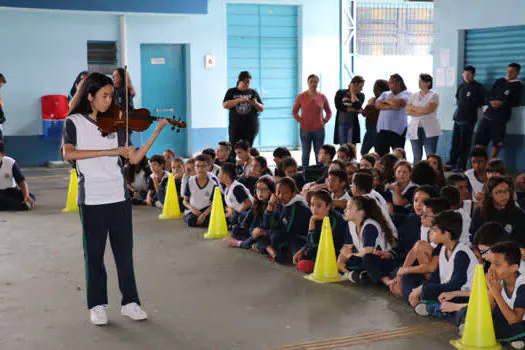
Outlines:
<svg viewBox="0 0 525 350"><path fill-rule="evenodd" d="M239 72L252 74L251 87L261 95L264 112L254 146L295 149L298 124L292 107L298 93L297 6L227 5L228 86Z"/></svg>

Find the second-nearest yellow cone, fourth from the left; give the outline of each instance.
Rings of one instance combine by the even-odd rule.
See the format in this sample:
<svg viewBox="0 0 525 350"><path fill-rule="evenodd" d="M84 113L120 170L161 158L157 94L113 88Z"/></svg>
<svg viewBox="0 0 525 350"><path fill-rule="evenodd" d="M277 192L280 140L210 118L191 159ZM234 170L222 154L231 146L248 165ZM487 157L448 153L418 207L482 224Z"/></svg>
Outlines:
<svg viewBox="0 0 525 350"><path fill-rule="evenodd" d="M325 216L323 219L323 229L319 240L317 257L315 258L314 272L304 276L304 278L316 283L331 283L343 280L337 269L334 237L332 236L332 226L328 216Z"/></svg>

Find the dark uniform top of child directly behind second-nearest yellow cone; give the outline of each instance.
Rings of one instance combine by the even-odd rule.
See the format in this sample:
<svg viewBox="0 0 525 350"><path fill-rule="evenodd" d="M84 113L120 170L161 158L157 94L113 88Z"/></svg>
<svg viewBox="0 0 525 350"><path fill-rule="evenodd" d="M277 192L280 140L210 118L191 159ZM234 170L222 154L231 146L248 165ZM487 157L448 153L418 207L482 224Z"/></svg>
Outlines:
<svg viewBox="0 0 525 350"><path fill-rule="evenodd" d="M332 238L334 241L335 255L339 255L343 245L352 244L352 237L348 229L348 224L343 219L343 216L337 211L330 211L330 226L332 228ZM303 254L304 259L315 260L317 256L317 249L319 248L319 242L321 240L321 233L323 229L323 222L317 221L315 223L315 229L308 231L306 237L305 252Z"/></svg>

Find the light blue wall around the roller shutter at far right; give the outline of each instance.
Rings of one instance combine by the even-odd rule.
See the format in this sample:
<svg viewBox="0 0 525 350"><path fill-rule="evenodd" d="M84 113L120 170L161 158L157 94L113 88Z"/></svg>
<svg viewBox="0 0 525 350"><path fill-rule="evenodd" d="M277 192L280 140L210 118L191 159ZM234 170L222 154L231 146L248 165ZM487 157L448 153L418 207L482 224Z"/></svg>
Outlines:
<svg viewBox="0 0 525 350"><path fill-rule="evenodd" d="M434 3L434 72L440 66L440 49L450 49L450 65L457 71L461 81L464 60L464 31L468 29L523 25L525 1L523 0L440 0ZM494 15L497 14L497 15ZM510 63L510 62L509 62ZM525 65L525 62L519 62ZM522 69L521 79L524 79ZM440 94L439 117L444 136L439 143L439 153L448 159L452 116L456 108L453 87L436 87ZM500 158L513 171L525 171L525 107L514 109L507 126L505 149Z"/></svg>

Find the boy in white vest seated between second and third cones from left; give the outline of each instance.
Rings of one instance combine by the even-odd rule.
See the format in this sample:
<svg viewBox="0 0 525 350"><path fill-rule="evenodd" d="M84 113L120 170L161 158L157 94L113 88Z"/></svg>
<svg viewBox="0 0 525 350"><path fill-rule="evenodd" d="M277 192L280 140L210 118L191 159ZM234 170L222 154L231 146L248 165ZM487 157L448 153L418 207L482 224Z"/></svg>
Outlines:
<svg viewBox="0 0 525 350"><path fill-rule="evenodd" d="M210 221L211 203L218 180L208 168L210 158L199 155L195 158L197 175L192 176L186 182L184 188L184 222L188 226L208 226Z"/></svg>

